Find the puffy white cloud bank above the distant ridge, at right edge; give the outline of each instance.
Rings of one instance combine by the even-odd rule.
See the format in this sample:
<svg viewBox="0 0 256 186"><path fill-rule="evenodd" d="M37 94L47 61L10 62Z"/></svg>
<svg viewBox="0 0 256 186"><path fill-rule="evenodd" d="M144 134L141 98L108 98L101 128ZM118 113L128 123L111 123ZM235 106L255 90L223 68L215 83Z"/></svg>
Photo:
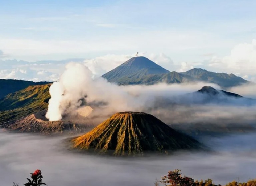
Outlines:
<svg viewBox="0 0 256 186"><path fill-rule="evenodd" d="M208 71L235 74L244 79L256 80L256 40L251 43L235 45L230 54L224 57L212 56L201 62L182 62L176 64L177 71L182 72L192 68L204 68Z"/></svg>

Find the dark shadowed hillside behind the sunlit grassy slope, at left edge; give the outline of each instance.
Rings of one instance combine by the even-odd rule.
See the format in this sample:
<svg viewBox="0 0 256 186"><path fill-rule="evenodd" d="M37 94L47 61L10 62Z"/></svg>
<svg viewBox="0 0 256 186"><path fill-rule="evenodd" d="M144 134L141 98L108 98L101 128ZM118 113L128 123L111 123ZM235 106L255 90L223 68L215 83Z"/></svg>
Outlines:
<svg viewBox="0 0 256 186"><path fill-rule="evenodd" d="M16 92L18 90L22 90L30 85L45 85L50 82L33 82L33 81L23 81L23 80L15 80L15 79L0 79L0 98L10 94L12 92Z"/></svg>

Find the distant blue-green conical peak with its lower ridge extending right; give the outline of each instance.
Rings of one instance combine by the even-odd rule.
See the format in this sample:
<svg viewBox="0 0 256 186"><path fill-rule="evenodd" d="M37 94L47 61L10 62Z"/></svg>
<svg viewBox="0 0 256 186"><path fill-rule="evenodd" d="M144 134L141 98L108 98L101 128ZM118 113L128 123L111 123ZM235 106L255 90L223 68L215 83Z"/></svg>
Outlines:
<svg viewBox="0 0 256 186"><path fill-rule="evenodd" d="M136 61L136 63L134 63L134 61ZM140 66L141 64L142 66L147 66L146 63L148 63L146 69ZM155 67L155 70L152 70L151 67ZM163 70L163 68L161 69L160 67L161 66L145 57L133 57L115 69L103 74L102 77L109 82L114 82L118 85L152 85L161 82L172 84L203 81L218 84L223 88L228 88L239 86L244 83L250 83L232 73L215 73L201 68L193 68L186 72L170 72L166 69ZM161 70L158 71L156 69Z"/></svg>

